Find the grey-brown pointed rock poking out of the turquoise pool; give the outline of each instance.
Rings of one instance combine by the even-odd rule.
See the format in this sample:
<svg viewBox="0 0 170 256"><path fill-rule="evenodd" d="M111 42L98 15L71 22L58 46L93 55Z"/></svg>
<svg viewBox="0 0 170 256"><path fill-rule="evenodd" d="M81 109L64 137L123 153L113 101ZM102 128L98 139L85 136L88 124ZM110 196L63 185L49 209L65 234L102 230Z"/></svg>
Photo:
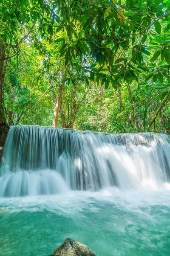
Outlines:
<svg viewBox="0 0 170 256"><path fill-rule="evenodd" d="M70 238L65 239L62 245L54 250L51 256L96 256L87 245L74 241Z"/></svg>

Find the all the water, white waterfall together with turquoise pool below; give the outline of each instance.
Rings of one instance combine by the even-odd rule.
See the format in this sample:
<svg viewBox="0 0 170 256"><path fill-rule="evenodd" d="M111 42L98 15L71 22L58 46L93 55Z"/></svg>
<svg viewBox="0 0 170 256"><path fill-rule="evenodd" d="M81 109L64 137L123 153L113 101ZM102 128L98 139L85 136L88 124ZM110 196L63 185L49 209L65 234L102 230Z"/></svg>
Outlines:
<svg viewBox="0 0 170 256"><path fill-rule="evenodd" d="M0 256L47 256L69 237L97 256L169 256L167 135L10 128Z"/></svg>

